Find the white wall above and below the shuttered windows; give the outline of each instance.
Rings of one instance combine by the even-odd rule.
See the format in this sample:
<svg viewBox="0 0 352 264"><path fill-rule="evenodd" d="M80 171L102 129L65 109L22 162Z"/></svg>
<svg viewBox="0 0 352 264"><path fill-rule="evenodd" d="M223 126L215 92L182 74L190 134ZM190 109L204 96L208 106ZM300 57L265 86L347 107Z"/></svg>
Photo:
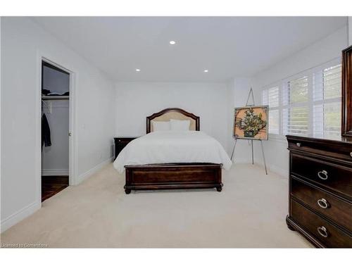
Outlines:
<svg viewBox="0 0 352 264"><path fill-rule="evenodd" d="M339 58L341 50L348 46L347 35L347 27L343 27L262 73L258 73L252 80L258 100L260 100L261 90L266 85L331 61L334 58ZM286 140L270 139L268 142L264 142L264 148L265 158L267 159L267 165L269 165L270 170L278 172L281 175L288 175L289 156ZM258 157L256 161L260 161L260 151L256 152L256 157Z"/></svg>

